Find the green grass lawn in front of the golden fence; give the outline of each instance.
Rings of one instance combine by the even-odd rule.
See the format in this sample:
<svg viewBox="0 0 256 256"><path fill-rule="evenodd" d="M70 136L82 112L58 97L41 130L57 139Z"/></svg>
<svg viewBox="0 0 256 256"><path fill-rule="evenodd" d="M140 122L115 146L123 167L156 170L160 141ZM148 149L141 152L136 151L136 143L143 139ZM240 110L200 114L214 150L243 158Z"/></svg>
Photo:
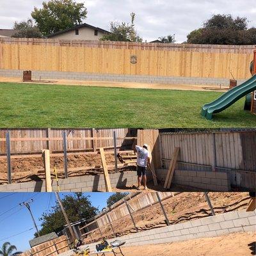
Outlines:
<svg viewBox="0 0 256 256"><path fill-rule="evenodd" d="M209 121L220 92L0 83L0 127L256 127L244 99Z"/></svg>

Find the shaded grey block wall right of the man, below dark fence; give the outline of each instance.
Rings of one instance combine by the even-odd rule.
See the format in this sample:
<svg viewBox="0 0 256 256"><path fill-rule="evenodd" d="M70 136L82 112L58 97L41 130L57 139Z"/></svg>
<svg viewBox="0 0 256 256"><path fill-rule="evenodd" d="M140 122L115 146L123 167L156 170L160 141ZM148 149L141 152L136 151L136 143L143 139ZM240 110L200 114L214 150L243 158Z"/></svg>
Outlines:
<svg viewBox="0 0 256 256"><path fill-rule="evenodd" d="M164 181L168 170L156 170L157 178ZM230 177L226 172L175 170L173 184L213 191L230 191Z"/></svg>

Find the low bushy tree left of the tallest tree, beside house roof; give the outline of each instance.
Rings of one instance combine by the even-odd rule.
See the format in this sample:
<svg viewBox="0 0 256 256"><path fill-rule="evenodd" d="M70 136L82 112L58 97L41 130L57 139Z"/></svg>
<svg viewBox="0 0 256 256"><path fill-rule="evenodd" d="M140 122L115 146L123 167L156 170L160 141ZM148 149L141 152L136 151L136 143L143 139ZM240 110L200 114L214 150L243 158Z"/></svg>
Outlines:
<svg viewBox="0 0 256 256"><path fill-rule="evenodd" d="M31 19L22 22L15 21L13 29L15 29L16 32L12 37L42 38L42 33L33 25Z"/></svg>

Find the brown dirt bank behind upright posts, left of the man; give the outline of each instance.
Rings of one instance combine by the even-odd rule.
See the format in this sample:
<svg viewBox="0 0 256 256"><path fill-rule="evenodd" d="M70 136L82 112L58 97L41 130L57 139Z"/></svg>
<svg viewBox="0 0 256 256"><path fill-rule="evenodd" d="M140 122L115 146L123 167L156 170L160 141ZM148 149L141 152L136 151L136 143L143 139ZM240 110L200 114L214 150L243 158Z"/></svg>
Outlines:
<svg viewBox="0 0 256 256"><path fill-rule="evenodd" d="M115 156L106 154L106 163L109 165L109 173L114 171ZM96 175L102 173L100 154L70 155L67 157L68 168L77 168L68 172L69 176L76 175ZM51 156L51 170L54 176L54 166L56 167L58 177L64 178L64 157ZM121 164L119 159L118 164ZM44 179L44 163L42 157L29 157L12 159L12 181L27 182L31 180ZM131 170L132 166L122 168L122 170ZM0 184L7 182L7 161L0 159Z"/></svg>

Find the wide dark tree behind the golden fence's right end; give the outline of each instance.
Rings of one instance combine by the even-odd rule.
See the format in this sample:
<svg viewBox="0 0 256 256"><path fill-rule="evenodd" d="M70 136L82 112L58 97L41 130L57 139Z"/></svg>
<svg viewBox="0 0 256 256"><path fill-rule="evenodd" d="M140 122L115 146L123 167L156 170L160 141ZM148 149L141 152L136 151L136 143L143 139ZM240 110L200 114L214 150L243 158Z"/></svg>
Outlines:
<svg viewBox="0 0 256 256"><path fill-rule="evenodd" d="M220 14L213 15L187 38L190 44L256 44L255 28L248 29L247 18Z"/></svg>

